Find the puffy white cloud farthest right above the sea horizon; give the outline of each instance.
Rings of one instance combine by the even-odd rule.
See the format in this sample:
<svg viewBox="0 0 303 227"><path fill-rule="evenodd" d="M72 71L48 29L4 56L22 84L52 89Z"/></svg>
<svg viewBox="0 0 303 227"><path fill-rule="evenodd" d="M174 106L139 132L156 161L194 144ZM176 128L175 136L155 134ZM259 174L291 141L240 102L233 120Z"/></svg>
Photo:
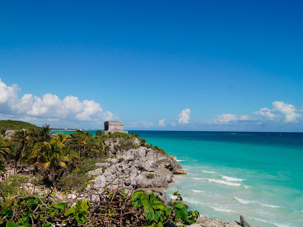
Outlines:
<svg viewBox="0 0 303 227"><path fill-rule="evenodd" d="M272 110L284 114L284 122L293 122L302 118L300 113L295 113L296 108L291 104L286 104L280 101L272 103Z"/></svg>

